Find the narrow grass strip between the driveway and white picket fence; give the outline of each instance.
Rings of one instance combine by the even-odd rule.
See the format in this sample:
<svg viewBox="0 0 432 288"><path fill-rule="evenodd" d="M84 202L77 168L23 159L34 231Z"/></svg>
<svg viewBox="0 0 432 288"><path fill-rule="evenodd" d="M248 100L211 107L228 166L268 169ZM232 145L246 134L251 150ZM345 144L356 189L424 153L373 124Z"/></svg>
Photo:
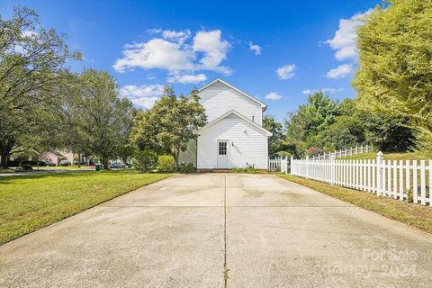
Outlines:
<svg viewBox="0 0 432 288"><path fill-rule="evenodd" d="M379 197L373 193L367 193L339 187L330 184L304 179L294 175L278 175L297 184L310 187L320 193L328 194L342 201L355 204L370 211L377 212L393 220L399 220L405 224L432 233L432 208L410 202L399 201L387 197Z"/></svg>

